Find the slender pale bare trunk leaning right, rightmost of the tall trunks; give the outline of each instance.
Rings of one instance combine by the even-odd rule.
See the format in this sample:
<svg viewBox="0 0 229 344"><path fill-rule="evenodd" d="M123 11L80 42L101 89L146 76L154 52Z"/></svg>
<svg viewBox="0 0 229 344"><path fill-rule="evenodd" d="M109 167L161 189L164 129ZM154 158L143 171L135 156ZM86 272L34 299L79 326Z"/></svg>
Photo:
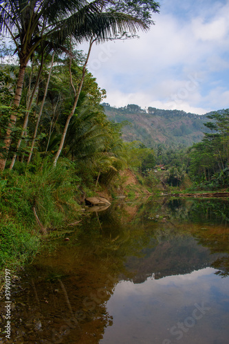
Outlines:
<svg viewBox="0 0 229 344"><path fill-rule="evenodd" d="M78 98L80 96L80 92L81 92L81 89L83 87L83 81L85 79L87 62L88 62L88 59L89 59L89 56L90 56L90 53L91 53L91 47L92 47L92 44L94 43L94 41L95 41L95 39L93 37L91 37L90 43L89 43L89 50L88 50L88 53L87 53L87 58L86 58L85 64L83 65L83 74L82 74L82 77L81 77L81 80L80 80L80 85L78 87L78 92L77 92L77 94L75 95L75 98L74 98L74 105L72 107L72 111L70 112L69 116L67 117L67 121L65 123L65 129L63 130L63 134L62 134L62 137L61 137L61 143L59 145L58 151L56 152L56 156L54 158L54 166L56 166L56 162L57 162L57 160L58 160L58 158L59 158L59 156L61 154L61 151L63 149L63 145L65 143L65 137L66 137L67 129L69 127L69 122L70 122L70 120L71 120L71 118L74 115L74 112L76 110L76 106L77 106L77 103L78 103ZM72 83L72 74L71 73L70 73L70 78L71 78L71 83ZM73 89L74 89L74 86L73 86Z"/></svg>

